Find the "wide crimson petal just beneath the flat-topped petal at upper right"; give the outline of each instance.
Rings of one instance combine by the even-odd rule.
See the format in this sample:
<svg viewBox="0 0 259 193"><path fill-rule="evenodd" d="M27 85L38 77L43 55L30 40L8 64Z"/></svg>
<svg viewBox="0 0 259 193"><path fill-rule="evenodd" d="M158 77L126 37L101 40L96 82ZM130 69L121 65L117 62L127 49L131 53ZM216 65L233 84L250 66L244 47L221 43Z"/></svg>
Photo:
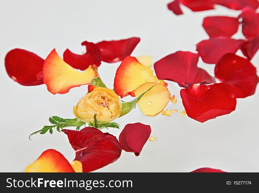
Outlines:
<svg viewBox="0 0 259 193"><path fill-rule="evenodd" d="M205 63L215 64L226 53L236 53L244 42L244 40L235 40L228 37L215 37L201 41L196 47Z"/></svg>

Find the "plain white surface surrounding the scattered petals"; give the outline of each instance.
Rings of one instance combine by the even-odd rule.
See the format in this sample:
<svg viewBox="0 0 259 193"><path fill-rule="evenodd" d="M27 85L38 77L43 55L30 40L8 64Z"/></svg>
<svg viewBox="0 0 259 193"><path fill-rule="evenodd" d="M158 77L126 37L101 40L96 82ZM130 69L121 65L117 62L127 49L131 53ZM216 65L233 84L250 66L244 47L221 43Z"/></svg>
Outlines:
<svg viewBox="0 0 259 193"><path fill-rule="evenodd" d="M87 85L73 88L67 94L52 95L46 85L26 87L6 74L4 57L13 48L23 48L46 58L53 48L62 57L66 48L82 53L82 41L122 39L132 36L141 41L132 56L150 55L154 61L175 51L196 50L196 43L208 36L202 28L205 16L238 16L222 6L212 11L192 12L182 6L184 15L176 16L167 9L170 0L128 1L1 1L0 3L0 171L23 172L47 149L61 152L69 161L75 153L64 133L32 136L30 133L48 125L50 115L73 118L72 106L87 92ZM243 38L239 29L235 38ZM258 67L259 54L252 62ZM120 63L102 63L99 73L109 88ZM204 64L213 75L214 65ZM167 81L169 82L169 81ZM176 105L167 108L183 110L180 88L170 82ZM200 167L212 167L227 172L259 172L259 92L237 100L229 115L197 122L179 113L171 117L147 117L137 107L127 116L117 119L121 129L110 129L119 136L127 123L149 124L154 142L147 142L139 157L122 151L113 164L96 172L190 172ZM126 97L124 100L131 100ZM102 130L108 132L108 130Z"/></svg>

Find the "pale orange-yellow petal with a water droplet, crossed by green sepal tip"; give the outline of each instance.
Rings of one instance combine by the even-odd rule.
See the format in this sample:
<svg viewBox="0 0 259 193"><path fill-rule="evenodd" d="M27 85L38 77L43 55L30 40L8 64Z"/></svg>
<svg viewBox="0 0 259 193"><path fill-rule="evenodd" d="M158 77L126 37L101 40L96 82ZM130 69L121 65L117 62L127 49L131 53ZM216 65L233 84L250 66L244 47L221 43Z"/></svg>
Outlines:
<svg viewBox="0 0 259 193"><path fill-rule="evenodd" d="M139 96L153 85L155 86L137 103L142 113L148 116L156 116L161 113L170 100L169 90L164 85L154 82L140 85L135 90L135 95Z"/></svg>

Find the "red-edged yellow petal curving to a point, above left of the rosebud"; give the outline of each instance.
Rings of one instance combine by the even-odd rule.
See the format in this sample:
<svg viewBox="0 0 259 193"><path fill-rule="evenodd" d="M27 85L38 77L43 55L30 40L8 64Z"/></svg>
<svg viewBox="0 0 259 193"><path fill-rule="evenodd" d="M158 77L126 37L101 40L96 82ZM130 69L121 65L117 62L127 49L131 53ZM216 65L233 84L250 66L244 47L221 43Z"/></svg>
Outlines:
<svg viewBox="0 0 259 193"><path fill-rule="evenodd" d="M89 66L79 72L59 57L56 50L52 50L43 65L43 82L52 94L64 94L71 88L89 84L97 74Z"/></svg>

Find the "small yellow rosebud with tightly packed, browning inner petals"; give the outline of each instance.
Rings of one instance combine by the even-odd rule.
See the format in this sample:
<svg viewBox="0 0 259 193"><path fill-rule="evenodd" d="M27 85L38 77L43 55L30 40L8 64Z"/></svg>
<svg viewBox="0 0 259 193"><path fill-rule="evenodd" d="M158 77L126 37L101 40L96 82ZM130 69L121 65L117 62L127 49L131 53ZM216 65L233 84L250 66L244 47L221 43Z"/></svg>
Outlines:
<svg viewBox="0 0 259 193"><path fill-rule="evenodd" d="M82 97L73 108L74 115L84 122L94 122L94 114L100 124L108 123L118 118L122 106L119 97L112 89L97 87Z"/></svg>

